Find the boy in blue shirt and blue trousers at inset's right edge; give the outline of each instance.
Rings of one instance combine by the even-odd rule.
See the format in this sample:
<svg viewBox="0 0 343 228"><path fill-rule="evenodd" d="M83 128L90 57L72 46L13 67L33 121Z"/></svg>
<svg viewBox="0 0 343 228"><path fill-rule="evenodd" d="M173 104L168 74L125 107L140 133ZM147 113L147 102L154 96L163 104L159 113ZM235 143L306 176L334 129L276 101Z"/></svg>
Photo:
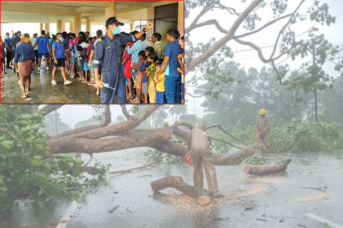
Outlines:
<svg viewBox="0 0 343 228"><path fill-rule="evenodd" d="M161 68L158 71L157 78L164 72L164 88L168 103L181 103L181 73L177 71L180 67L177 56L183 54L177 39L180 33L177 29L172 28L167 31L167 42L164 49L164 58Z"/></svg>

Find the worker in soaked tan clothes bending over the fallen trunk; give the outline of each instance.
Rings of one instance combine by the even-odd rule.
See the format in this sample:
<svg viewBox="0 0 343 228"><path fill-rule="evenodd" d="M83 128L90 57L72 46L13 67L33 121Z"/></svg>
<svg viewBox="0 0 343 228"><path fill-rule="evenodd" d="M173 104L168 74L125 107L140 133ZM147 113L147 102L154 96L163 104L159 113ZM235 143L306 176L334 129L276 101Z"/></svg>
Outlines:
<svg viewBox="0 0 343 228"><path fill-rule="evenodd" d="M224 197L218 191L217 174L215 166L211 162L212 151L210 139L206 134L206 125L200 122L197 128L191 130L188 140L188 151L184 157L186 164L193 166L194 186L204 188L204 177L202 166L207 180L208 190L213 197Z"/></svg>

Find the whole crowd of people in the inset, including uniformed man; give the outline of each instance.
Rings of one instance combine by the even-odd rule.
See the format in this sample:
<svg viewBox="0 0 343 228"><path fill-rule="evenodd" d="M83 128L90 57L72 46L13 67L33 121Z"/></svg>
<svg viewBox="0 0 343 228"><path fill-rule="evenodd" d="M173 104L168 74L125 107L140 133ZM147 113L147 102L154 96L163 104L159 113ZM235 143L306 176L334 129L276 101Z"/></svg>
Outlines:
<svg viewBox="0 0 343 228"><path fill-rule="evenodd" d="M180 38L177 29L169 29L164 46L160 33L153 33L151 42L146 39L151 23L130 33L120 31L122 25L110 17L107 33L98 30L94 37L88 31L78 36L65 31L50 36L42 30L39 37L35 33L32 38L27 33L22 36L21 31L12 38L6 33L4 41L1 39L1 71L13 70L20 77L22 98L30 91L36 65L37 73L45 71L41 68L44 57L45 72L53 67L52 84L58 84L60 68L64 85L72 83L68 76L78 78L96 88L102 103L114 103L115 96L118 103L184 103L184 37Z"/></svg>

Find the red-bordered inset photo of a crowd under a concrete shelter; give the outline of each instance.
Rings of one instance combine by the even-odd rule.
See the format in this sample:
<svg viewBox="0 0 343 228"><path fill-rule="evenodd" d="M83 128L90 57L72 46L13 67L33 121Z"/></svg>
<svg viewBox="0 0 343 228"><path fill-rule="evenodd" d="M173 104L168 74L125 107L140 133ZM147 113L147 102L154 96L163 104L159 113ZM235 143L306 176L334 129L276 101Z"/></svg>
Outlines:
<svg viewBox="0 0 343 228"><path fill-rule="evenodd" d="M184 1L1 1L1 104L184 103Z"/></svg>

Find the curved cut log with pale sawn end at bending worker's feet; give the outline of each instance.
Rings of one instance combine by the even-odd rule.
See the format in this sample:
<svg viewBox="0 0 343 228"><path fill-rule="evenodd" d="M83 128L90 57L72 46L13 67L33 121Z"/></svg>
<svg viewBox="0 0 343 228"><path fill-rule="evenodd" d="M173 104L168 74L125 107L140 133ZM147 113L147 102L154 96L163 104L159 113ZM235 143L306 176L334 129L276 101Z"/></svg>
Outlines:
<svg viewBox="0 0 343 228"><path fill-rule="evenodd" d="M186 195L198 198L198 203L202 206L207 205L210 202L210 194L207 190L189 185L184 182L182 177L179 176L170 176L158 179L151 182L150 185L154 191L169 187L175 188Z"/></svg>

